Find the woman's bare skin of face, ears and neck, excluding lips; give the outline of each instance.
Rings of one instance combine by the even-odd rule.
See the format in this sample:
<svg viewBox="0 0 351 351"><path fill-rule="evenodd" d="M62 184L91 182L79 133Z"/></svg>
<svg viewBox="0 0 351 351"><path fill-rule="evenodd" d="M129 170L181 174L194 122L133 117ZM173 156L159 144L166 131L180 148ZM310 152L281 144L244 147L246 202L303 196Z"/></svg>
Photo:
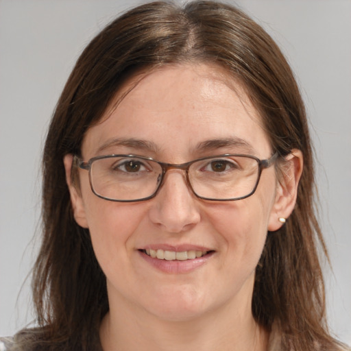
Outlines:
<svg viewBox="0 0 351 351"><path fill-rule="evenodd" d="M128 90L133 78L124 86ZM116 101L123 89L116 96ZM269 158L269 140L241 86L217 66L166 66L147 73L84 138L85 161L104 154L138 154L182 163L224 153ZM115 138L140 145L108 145ZM199 148L204 141L240 138L238 145ZM222 143L223 144L223 143ZM101 147L104 146L104 149ZM106 274L110 312L101 324L104 350L266 350L269 335L251 311L254 271L267 230L282 226L295 204L302 171L297 150L287 158L284 180L263 170L256 192L234 202L198 199L171 170L153 199L109 202L90 189L80 169L80 191L71 184L72 155L64 165L75 219L89 228L97 260ZM191 271L167 273L139 250L158 245L197 245L213 250Z"/></svg>

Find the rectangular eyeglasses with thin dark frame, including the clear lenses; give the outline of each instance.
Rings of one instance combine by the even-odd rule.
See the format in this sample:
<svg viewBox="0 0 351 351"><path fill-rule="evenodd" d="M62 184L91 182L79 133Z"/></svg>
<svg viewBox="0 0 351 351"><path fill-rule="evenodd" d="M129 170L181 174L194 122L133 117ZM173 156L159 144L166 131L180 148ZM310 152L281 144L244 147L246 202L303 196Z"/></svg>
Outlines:
<svg viewBox="0 0 351 351"><path fill-rule="evenodd" d="M134 155L106 155L88 162L75 156L81 169L89 171L91 190L109 201L136 202L155 197L170 169L181 169L186 182L200 199L234 201L252 195L263 169L275 162L278 154L267 160L241 154L198 158L180 165L158 162Z"/></svg>

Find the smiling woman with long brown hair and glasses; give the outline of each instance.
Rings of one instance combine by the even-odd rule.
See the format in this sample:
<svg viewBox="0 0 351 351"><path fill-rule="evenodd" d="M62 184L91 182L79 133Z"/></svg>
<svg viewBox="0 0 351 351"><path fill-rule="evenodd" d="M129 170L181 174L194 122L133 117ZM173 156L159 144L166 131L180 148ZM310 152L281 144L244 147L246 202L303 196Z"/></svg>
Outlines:
<svg viewBox="0 0 351 351"><path fill-rule="evenodd" d="M342 350L304 105L239 10L149 3L84 50L43 158L23 350Z"/></svg>

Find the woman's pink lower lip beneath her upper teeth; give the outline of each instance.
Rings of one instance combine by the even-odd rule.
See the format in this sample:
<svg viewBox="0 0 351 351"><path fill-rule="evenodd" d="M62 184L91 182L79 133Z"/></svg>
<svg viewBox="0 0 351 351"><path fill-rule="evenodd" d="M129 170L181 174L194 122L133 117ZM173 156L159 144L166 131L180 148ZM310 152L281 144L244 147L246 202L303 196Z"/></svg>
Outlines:
<svg viewBox="0 0 351 351"><path fill-rule="evenodd" d="M184 260L184 261L167 261L159 260L158 258L152 258L151 256L145 254L145 252L139 251L139 254L147 263L154 266L156 269L169 274L182 274L189 271L193 271L198 267L204 265L214 254L210 252L205 256L194 258L193 260Z"/></svg>

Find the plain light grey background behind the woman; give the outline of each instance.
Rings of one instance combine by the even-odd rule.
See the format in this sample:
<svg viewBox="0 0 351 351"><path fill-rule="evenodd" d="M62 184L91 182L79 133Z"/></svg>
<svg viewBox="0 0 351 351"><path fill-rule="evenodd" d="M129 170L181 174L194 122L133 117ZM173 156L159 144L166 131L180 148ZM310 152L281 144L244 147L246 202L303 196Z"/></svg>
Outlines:
<svg viewBox="0 0 351 351"><path fill-rule="evenodd" d="M0 335L31 321L40 233L40 153L75 60L115 14L139 1L0 0ZM237 4L278 41L298 77L318 158L328 315L351 343L351 1ZM23 287L18 298L19 291Z"/></svg>

